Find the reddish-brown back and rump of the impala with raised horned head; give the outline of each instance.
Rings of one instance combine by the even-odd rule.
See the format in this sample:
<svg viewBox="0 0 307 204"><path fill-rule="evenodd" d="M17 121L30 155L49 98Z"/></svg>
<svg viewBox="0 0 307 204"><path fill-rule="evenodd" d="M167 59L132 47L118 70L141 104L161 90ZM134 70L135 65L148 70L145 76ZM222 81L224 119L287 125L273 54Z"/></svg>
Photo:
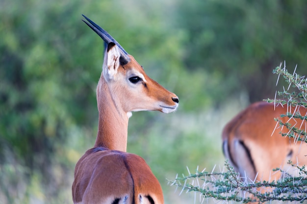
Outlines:
<svg viewBox="0 0 307 204"><path fill-rule="evenodd" d="M139 204L140 200L163 204L159 181L141 157L126 152L93 148L77 162L75 175L81 182L73 184L74 203L112 203L116 199L127 204Z"/></svg>

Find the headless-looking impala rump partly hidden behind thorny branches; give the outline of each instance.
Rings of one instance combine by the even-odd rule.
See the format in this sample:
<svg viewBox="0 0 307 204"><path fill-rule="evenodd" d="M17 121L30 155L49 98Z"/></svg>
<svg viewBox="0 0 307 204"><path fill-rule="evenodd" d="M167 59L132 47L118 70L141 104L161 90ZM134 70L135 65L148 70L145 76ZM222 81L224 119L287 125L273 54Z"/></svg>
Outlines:
<svg viewBox="0 0 307 204"><path fill-rule="evenodd" d="M281 117L281 114L300 113L306 116L307 109L300 107L275 106L273 103L257 102L236 115L224 128L223 152L234 169L242 177L256 181L273 181L281 178L280 168L290 175L294 168L288 164L307 164L307 143L293 138L282 137L288 133L285 127L279 128L274 118L283 123L306 131L307 122L297 118Z"/></svg>

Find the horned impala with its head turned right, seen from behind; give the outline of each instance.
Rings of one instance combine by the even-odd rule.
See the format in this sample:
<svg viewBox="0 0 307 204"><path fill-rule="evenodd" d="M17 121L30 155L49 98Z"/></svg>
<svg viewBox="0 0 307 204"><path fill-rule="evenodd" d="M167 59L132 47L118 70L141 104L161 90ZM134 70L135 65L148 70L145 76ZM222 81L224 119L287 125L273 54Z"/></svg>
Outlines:
<svg viewBox="0 0 307 204"><path fill-rule="evenodd" d="M78 160L72 186L75 204L163 204L158 180L141 157L127 149L133 111L170 113L178 97L149 78L106 31L83 16L105 42L97 86L98 134L94 148Z"/></svg>

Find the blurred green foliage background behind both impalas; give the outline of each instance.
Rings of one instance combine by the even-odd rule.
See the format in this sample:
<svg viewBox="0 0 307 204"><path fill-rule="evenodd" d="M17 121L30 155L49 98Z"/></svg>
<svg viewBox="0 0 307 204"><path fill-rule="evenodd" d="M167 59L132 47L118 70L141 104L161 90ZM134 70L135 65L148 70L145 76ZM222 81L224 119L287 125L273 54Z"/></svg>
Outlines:
<svg viewBox="0 0 307 204"><path fill-rule="evenodd" d="M129 120L128 152L150 165L166 204L194 203L166 179L223 168L222 128L281 90L273 68L307 74L304 0L0 0L0 204L73 203L103 62L81 14L179 96L176 113Z"/></svg>

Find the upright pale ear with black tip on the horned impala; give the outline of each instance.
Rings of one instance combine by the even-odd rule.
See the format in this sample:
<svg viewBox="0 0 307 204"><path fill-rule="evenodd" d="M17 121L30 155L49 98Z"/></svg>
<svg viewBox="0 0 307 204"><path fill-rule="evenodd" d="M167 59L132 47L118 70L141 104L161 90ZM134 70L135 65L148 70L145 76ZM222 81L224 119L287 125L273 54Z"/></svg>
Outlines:
<svg viewBox="0 0 307 204"><path fill-rule="evenodd" d="M106 66L104 66L103 68L103 75L105 79L112 80L118 72L121 54L118 51L117 45L115 45L114 43L109 43L106 45L104 55L104 63L106 64Z"/></svg>

